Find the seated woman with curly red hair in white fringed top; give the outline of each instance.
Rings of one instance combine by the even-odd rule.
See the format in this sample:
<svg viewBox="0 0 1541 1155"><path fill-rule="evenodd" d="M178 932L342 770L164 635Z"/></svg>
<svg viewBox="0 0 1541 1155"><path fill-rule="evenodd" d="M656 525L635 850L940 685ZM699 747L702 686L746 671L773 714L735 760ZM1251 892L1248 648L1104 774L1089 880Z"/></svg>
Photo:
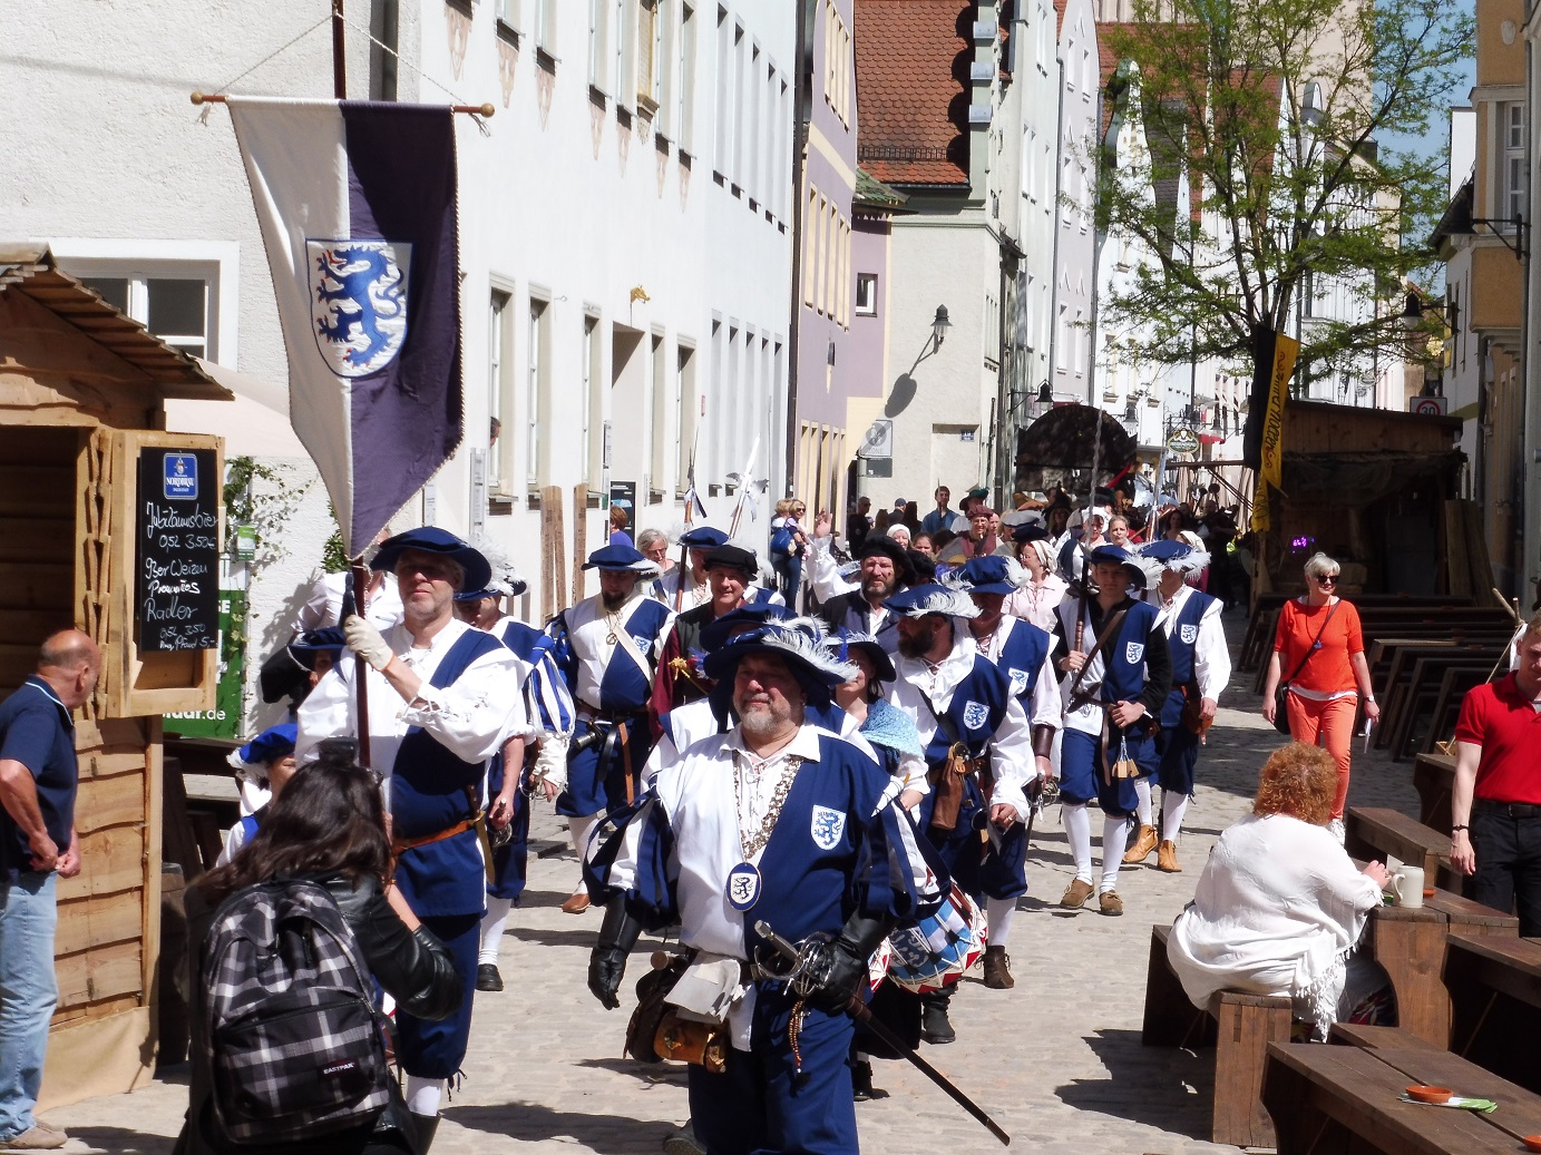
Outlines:
<svg viewBox="0 0 1541 1155"><path fill-rule="evenodd" d="M1318 1040L1335 1021L1385 1018L1385 972L1355 947L1388 875L1355 867L1327 830L1336 792L1338 765L1314 745L1264 764L1253 812L1220 835L1167 941L1194 1006L1225 989L1288 995Z"/></svg>

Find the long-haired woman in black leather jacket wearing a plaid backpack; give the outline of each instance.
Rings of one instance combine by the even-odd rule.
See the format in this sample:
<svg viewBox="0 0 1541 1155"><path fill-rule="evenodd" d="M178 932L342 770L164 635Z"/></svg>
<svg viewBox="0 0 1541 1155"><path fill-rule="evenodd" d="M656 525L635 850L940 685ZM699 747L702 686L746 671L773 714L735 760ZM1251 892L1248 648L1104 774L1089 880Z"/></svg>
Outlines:
<svg viewBox="0 0 1541 1155"><path fill-rule="evenodd" d="M424 927L407 901L388 884L390 841L379 785L351 759L324 755L300 767L267 808L267 821L227 865L211 870L188 890L188 942L193 992L208 989L200 946L219 906L259 882L317 882L337 902L370 972L396 1006L418 1018L442 1019L461 1004L461 979L444 944ZM194 1016L196 1019L197 1016ZM213 1155L217 1140L213 1113L210 1041L194 1026L188 1118L177 1155ZM394 1083L391 1084L394 1087ZM421 1155L433 1141L438 1118L410 1115L393 1093L373 1121L356 1130L327 1135L314 1144L243 1144L250 1155Z"/></svg>

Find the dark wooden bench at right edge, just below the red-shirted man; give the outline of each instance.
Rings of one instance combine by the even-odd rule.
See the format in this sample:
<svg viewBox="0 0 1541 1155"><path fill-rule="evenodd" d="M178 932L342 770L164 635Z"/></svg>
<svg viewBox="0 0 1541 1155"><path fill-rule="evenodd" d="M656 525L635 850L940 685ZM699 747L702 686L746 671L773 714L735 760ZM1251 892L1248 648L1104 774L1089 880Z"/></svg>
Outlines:
<svg viewBox="0 0 1541 1155"><path fill-rule="evenodd" d="M1450 935L1444 984L1450 1049L1541 1092L1541 939Z"/></svg>

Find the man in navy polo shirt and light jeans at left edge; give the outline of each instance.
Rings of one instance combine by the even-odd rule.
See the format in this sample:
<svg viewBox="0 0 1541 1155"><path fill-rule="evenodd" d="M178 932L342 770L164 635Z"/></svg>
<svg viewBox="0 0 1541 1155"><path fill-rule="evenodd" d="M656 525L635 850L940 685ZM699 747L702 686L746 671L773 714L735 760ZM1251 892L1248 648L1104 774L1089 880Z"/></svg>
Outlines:
<svg viewBox="0 0 1541 1155"><path fill-rule="evenodd" d="M0 1150L63 1147L32 1118L48 1052L54 979L54 878L80 873L76 841L77 710L102 653L79 630L52 634L37 673L0 702Z"/></svg>

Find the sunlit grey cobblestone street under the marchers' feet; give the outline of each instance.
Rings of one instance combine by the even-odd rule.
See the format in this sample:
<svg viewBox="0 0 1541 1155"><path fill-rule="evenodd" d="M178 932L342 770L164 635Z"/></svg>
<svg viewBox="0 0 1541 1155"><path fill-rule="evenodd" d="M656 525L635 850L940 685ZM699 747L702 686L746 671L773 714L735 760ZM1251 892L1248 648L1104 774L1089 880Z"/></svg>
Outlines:
<svg viewBox="0 0 1541 1155"><path fill-rule="evenodd" d="M1227 622L1233 647L1244 621ZM1123 918L1076 915L1054 902L1069 878L1057 812L1034 830L1029 895L1012 927L1016 989L968 981L952 1001L959 1041L925 1055L1012 1135L1012 1149L1049 1153L1233 1150L1208 1133L1213 1052L1145 1050L1139 1027L1153 922L1170 922L1191 896L1216 836L1250 804L1256 770L1277 735L1256 713L1251 675L1233 681L1200 756L1199 792L1179 850L1183 873L1125 869ZM1350 804L1416 813L1410 764L1355 750ZM536 847L566 841L549 807L536 812ZM1150 859L1154 862L1154 855ZM89 862L86 864L89 870ZM570 853L530 858L530 889L502 946L507 990L478 995L464 1086L445 1104L435 1155L601 1152L655 1155L687 1109L680 1067L621 1058L629 1004L606 1012L584 986L598 915L558 910L576 876ZM633 955L627 983L646 966ZM949 1155L999 1144L920 1072L877 1064L889 1098L857 1109L866 1150ZM185 1106L180 1081L51 1112L71 1152L171 1150Z"/></svg>

